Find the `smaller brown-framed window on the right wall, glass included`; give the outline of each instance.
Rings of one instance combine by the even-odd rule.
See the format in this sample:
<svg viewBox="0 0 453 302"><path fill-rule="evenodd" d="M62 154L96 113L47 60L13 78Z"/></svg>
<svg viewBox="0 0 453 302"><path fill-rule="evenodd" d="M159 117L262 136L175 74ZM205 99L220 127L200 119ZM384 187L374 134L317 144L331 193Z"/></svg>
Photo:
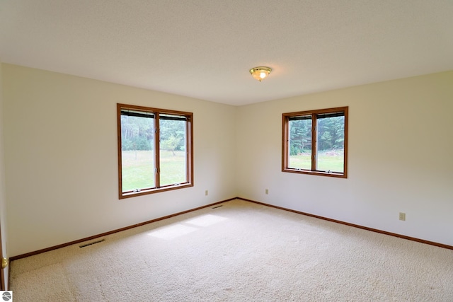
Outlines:
<svg viewBox="0 0 453 302"><path fill-rule="evenodd" d="M348 107L283 114L282 171L347 177Z"/></svg>

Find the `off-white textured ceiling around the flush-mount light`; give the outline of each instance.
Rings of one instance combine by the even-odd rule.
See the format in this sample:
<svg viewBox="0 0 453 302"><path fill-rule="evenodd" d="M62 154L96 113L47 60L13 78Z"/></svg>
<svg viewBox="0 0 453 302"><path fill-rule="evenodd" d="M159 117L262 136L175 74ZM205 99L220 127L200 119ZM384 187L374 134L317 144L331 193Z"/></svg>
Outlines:
<svg viewBox="0 0 453 302"><path fill-rule="evenodd" d="M0 58L244 105L453 70L453 1L0 0Z"/></svg>

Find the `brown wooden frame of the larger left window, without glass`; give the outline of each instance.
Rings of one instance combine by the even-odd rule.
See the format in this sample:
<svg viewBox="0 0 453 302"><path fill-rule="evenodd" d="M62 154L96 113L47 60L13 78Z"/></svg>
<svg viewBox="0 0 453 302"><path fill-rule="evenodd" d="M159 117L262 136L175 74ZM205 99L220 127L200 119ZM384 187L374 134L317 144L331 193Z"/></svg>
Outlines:
<svg viewBox="0 0 453 302"><path fill-rule="evenodd" d="M154 180L155 187L153 188L144 188L136 191L122 192L122 141L121 141L121 110L135 110L143 112L151 112L154 114ZM184 116L186 119L185 132L186 132L186 141L185 141L185 156L186 156L186 179L187 182L173 185L160 185L160 133L159 133L159 115L180 115ZM193 187L193 112L184 112L176 110L167 110L160 108L150 108L137 105L127 105L117 103L117 152L118 152L118 197L119 199L125 199L130 197L142 196L146 194L153 194L158 192L165 192L169 190L178 190L185 187Z"/></svg>

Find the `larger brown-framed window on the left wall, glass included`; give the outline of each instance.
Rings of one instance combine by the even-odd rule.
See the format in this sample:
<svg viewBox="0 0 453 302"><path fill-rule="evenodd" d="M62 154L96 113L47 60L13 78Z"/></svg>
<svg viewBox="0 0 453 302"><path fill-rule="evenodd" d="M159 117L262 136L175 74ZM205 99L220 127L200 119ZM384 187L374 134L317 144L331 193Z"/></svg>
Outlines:
<svg viewBox="0 0 453 302"><path fill-rule="evenodd" d="M193 113L117 104L119 197L193 186Z"/></svg>

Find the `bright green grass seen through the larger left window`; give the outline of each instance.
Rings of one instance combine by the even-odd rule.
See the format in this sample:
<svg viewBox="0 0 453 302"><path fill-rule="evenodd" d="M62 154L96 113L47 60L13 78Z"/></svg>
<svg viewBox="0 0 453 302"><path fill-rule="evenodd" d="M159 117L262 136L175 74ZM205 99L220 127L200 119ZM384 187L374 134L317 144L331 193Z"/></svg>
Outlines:
<svg viewBox="0 0 453 302"><path fill-rule="evenodd" d="M161 151L161 186L186 182L185 152ZM122 191L154 187L154 151L122 151Z"/></svg>

